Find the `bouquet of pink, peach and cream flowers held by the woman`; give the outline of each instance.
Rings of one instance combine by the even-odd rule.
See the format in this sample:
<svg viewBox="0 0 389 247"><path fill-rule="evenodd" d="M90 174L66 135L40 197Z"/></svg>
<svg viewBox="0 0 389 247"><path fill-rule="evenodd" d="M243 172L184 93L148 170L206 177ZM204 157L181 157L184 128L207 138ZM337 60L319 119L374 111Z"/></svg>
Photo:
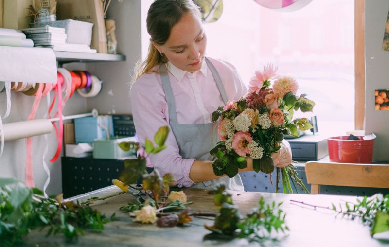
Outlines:
<svg viewBox="0 0 389 247"><path fill-rule="evenodd" d="M293 115L297 110L312 111L315 103L306 94L296 95L299 86L293 77L278 76L276 71L272 64L256 71L248 94L212 113L213 122L221 118L221 141L210 151L217 157L212 164L216 175L235 176L239 168L247 167L246 156L253 159L254 171L269 174L275 168L271 153L280 149L283 135L298 136L299 130L312 128L307 118L293 118ZM277 168L276 175L276 192L281 176L283 193L293 193L291 182L295 188L297 184L308 193L292 164Z"/></svg>

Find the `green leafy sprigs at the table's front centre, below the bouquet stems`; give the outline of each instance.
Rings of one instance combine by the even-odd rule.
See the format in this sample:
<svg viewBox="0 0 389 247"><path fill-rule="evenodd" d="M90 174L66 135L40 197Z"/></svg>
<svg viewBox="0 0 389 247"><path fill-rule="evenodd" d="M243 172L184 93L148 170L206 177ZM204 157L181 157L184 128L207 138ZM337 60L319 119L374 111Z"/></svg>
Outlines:
<svg viewBox="0 0 389 247"><path fill-rule="evenodd" d="M231 194L224 184L220 184L209 194L214 194L214 203L219 208L213 226L205 226L214 233L246 238L249 241L277 239L279 231L285 233L289 228L285 224L286 214L279 209L282 203L265 204L259 199L259 207L242 217L239 208L233 204ZM275 234L274 234L275 233Z"/></svg>

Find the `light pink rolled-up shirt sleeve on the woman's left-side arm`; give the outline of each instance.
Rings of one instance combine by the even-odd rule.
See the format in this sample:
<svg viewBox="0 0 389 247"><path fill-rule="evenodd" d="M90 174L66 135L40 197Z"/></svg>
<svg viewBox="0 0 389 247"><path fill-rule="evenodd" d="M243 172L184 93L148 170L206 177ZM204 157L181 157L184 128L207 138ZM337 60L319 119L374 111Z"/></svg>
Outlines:
<svg viewBox="0 0 389 247"><path fill-rule="evenodd" d="M145 139L154 142L154 135L161 126L169 126L169 114L159 74L141 76L130 90L131 108L136 134L144 145ZM157 154L149 154L151 165L161 176L170 173L178 187L189 187L194 182L189 172L195 159L183 159L179 155L176 138L172 131L165 142L167 148Z"/></svg>

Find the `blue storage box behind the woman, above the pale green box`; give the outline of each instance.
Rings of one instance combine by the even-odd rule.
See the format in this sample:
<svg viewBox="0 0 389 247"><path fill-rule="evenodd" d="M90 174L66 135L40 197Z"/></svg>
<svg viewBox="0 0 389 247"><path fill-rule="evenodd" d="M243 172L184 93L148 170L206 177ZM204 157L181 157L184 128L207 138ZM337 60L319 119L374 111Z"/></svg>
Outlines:
<svg viewBox="0 0 389 247"><path fill-rule="evenodd" d="M113 135L112 116L84 117L74 119L75 141L77 143L89 142L94 139L106 139L106 130L99 126L106 126L109 136Z"/></svg>

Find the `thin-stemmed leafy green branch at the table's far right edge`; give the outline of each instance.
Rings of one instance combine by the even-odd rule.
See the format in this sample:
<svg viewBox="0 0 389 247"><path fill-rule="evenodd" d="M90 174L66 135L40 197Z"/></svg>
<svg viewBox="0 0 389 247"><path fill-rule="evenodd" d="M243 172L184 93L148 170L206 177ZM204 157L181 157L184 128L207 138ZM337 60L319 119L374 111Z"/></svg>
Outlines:
<svg viewBox="0 0 389 247"><path fill-rule="evenodd" d="M364 224L370 226L371 236L389 231L389 194L375 194L371 197L365 196L362 200L357 199L357 203L346 202L345 210L341 204L337 208L334 204L332 204L332 207L323 207L295 200L291 200L291 202L314 208L333 210L338 215L349 216L352 220L360 218ZM353 205L350 206L350 204Z"/></svg>

